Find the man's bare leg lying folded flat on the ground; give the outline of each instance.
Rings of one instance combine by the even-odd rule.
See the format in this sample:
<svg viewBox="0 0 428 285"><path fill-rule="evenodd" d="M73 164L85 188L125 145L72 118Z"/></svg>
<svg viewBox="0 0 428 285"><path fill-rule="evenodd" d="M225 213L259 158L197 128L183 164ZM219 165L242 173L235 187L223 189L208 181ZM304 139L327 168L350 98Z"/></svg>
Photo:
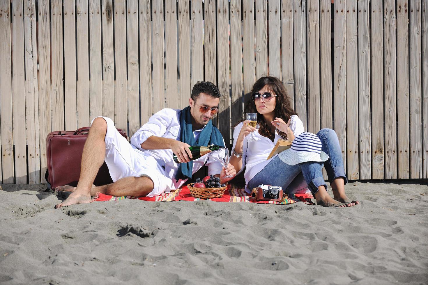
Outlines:
<svg viewBox="0 0 428 285"><path fill-rule="evenodd" d="M147 176L128 176L114 183L91 188L91 196L98 193L112 196L146 197L153 190L153 181Z"/></svg>

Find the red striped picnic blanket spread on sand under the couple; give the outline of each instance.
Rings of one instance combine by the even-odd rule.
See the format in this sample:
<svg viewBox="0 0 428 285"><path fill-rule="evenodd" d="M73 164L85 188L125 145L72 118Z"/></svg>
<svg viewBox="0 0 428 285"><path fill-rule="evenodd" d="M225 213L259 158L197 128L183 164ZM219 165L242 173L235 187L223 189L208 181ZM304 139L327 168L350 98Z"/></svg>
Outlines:
<svg viewBox="0 0 428 285"><path fill-rule="evenodd" d="M224 194L220 198L213 198L213 199L206 199L211 200L214 202L250 202L250 203L265 203L265 204L293 204L297 202L304 202L306 204L313 204L312 203L312 194L288 194L288 198L282 199L281 202L276 201L259 201L256 202L256 199L249 196L244 189L239 188L231 188L230 185L228 186L228 189L224 191ZM137 200L143 200L143 201L198 201L201 200L199 198L195 198L190 194L189 189L187 186L183 186L182 188L176 190L175 192L171 193L163 193L159 196L155 197L140 197L135 198L131 196L122 196L122 197L116 197L116 196L110 196L106 194L99 193L94 201L119 201L123 199L137 199Z"/></svg>

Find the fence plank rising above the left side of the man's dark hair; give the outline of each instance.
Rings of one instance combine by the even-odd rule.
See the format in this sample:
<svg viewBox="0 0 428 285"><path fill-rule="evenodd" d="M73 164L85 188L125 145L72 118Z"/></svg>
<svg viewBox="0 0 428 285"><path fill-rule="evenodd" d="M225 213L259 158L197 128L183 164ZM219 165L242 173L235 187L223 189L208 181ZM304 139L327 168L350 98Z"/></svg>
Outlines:
<svg viewBox="0 0 428 285"><path fill-rule="evenodd" d="M204 80L204 34L202 32L202 0L192 0L192 15L190 24L190 35L191 35L191 86L195 85L196 82Z"/></svg>

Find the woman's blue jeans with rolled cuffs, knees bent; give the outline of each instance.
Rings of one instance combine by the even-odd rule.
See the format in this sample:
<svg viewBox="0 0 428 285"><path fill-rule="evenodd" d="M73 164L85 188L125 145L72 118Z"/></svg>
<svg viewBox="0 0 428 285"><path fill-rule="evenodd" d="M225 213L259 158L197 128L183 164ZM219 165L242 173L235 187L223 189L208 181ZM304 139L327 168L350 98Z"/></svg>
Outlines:
<svg viewBox="0 0 428 285"><path fill-rule="evenodd" d="M327 153L328 159L324 162L325 170L330 182L338 177L348 182L342 159L339 139L332 129L321 129L317 132L321 140L321 150ZM253 179L248 182L248 188L253 189L260 184L281 186L284 193L294 194L297 191L309 188L313 194L318 192L318 187L327 184L322 175L323 162L302 162L297 165L288 165L276 156Z"/></svg>

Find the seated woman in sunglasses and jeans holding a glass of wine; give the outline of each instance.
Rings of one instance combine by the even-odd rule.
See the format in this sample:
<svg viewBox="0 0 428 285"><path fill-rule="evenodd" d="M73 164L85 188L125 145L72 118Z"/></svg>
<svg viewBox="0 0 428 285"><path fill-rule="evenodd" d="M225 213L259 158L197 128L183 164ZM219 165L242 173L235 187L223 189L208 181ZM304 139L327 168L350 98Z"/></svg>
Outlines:
<svg viewBox="0 0 428 285"><path fill-rule="evenodd" d="M308 187L324 207L345 207L359 204L345 195L346 175L342 151L336 132L321 129L316 135L304 132L303 123L291 108L282 82L266 76L256 81L251 91L252 100L244 108L246 113L257 113L258 131L244 120L235 126L230 163L241 172L244 167L246 190L260 184L281 186L285 193L295 193ZM254 132L257 141L249 141ZM279 138L293 141L292 147L267 160ZM321 167L327 170L333 198L327 193L327 184Z"/></svg>

